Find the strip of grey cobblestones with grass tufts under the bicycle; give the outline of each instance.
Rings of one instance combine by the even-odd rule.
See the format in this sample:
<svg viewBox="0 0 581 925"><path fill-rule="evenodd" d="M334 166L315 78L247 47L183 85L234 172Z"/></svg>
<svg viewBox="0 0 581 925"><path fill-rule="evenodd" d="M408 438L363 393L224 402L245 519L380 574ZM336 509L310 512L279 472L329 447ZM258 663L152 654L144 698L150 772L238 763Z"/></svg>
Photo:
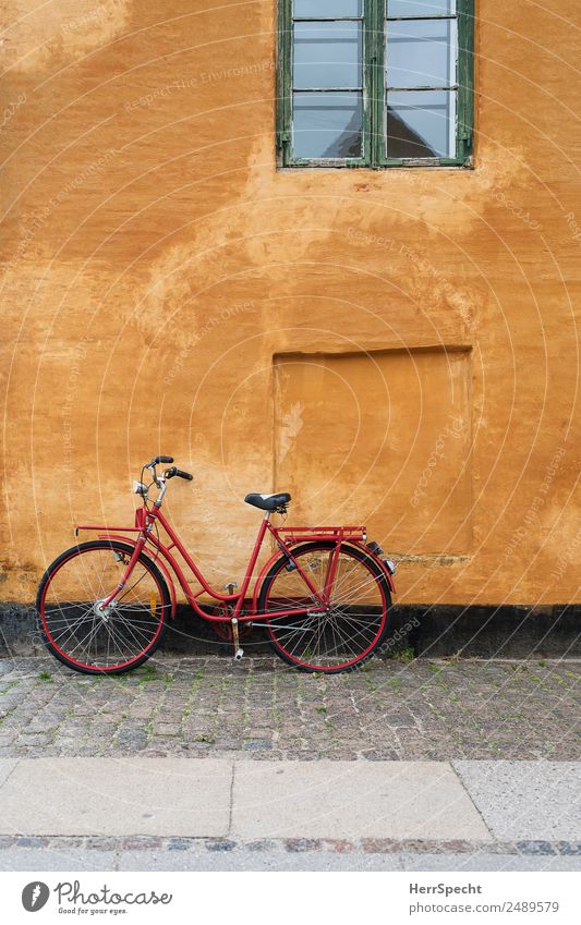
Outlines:
<svg viewBox="0 0 581 925"><path fill-rule="evenodd" d="M576 760L581 662L372 660L322 678L278 658L158 656L117 678L0 660L0 756Z"/></svg>

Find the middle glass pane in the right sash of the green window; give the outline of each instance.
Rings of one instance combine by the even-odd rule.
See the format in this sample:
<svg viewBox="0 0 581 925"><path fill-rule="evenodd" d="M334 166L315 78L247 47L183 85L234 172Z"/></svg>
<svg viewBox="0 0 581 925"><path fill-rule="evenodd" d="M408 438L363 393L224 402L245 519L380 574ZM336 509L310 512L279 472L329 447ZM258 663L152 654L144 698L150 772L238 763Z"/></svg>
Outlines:
<svg viewBox="0 0 581 925"><path fill-rule="evenodd" d="M387 86L456 83L456 20L387 23Z"/></svg>

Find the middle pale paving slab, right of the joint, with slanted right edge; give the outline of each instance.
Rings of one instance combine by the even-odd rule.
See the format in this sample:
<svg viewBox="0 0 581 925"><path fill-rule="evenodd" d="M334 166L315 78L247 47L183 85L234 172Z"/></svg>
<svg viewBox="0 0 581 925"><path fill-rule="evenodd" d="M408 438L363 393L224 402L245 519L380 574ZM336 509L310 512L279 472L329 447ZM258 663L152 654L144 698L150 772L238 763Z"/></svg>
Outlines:
<svg viewBox="0 0 581 925"><path fill-rule="evenodd" d="M458 839L477 832L481 825L481 838L492 839L449 762L346 763L342 767L326 762L306 768L292 762L262 763L252 771L242 764L234 802L239 837L252 832L257 838L264 831L291 838L337 837L339 832L343 838L353 832L370 838L408 832L422 838L434 831L440 838ZM253 789L253 771L259 796ZM285 777L278 778L279 774ZM302 800L300 811L286 811L283 798L306 793L310 798Z"/></svg>

